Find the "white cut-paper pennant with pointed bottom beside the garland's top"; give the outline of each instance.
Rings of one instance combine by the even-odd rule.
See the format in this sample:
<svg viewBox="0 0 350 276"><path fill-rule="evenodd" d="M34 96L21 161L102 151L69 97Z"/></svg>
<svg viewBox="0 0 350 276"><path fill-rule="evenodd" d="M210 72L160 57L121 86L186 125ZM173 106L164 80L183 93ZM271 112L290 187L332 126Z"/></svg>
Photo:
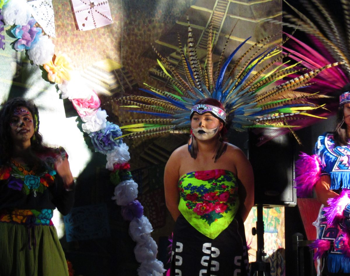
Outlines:
<svg viewBox="0 0 350 276"><path fill-rule="evenodd" d="M51 0L34 0L27 2L31 15L51 37L55 35L55 15Z"/></svg>

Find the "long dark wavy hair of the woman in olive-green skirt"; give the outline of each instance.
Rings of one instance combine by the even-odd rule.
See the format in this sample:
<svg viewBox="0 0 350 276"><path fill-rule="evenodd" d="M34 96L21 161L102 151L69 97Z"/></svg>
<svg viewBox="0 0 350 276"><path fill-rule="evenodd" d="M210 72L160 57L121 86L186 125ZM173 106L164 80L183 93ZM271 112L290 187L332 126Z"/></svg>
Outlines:
<svg viewBox="0 0 350 276"><path fill-rule="evenodd" d="M43 153L49 148L43 146L42 136L39 133L39 113L35 104L23 98L13 98L5 102L0 110L0 161L9 162L13 154L13 141L10 135L10 120L17 107L26 107L33 116L34 135L30 138L30 149L33 155Z"/></svg>

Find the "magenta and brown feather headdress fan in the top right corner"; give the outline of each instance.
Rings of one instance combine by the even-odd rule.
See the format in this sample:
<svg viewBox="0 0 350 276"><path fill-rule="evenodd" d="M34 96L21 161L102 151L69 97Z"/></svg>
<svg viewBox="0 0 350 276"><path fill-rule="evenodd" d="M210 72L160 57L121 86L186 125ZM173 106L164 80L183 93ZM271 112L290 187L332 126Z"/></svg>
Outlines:
<svg viewBox="0 0 350 276"><path fill-rule="evenodd" d="M289 14L283 15L287 22L282 23L271 19L265 21L282 24L307 34L307 43L295 36L287 35L290 38L288 41L290 47L283 46L285 50L293 52L290 58L301 62L306 68L313 70L335 61L343 63L315 78L317 81L313 86L315 91L322 89L323 94L334 94L350 82L349 2L345 0L339 2L301 0L300 2L307 15L286 2L292 10Z"/></svg>

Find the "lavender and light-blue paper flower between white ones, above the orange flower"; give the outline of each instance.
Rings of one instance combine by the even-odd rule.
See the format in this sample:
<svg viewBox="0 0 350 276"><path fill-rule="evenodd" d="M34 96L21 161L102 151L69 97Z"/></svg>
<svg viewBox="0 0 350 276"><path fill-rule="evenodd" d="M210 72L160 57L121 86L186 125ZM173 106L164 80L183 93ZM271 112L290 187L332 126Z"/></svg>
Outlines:
<svg viewBox="0 0 350 276"><path fill-rule="evenodd" d="M18 38L14 46L17 51L29 50L38 41L42 30L33 27L35 23L36 21L32 17L27 25L17 25L11 30L11 33Z"/></svg>

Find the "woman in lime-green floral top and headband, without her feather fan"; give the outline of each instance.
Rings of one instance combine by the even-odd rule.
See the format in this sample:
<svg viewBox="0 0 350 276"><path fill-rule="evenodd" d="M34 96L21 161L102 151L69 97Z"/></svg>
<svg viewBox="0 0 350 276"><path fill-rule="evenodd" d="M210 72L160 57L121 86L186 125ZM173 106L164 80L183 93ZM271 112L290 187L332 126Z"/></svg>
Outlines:
<svg viewBox="0 0 350 276"><path fill-rule="evenodd" d="M190 119L189 145L173 152L164 174L176 221L171 275L247 275L243 221L254 204L252 167L223 140L226 114L219 101L200 100Z"/></svg>

